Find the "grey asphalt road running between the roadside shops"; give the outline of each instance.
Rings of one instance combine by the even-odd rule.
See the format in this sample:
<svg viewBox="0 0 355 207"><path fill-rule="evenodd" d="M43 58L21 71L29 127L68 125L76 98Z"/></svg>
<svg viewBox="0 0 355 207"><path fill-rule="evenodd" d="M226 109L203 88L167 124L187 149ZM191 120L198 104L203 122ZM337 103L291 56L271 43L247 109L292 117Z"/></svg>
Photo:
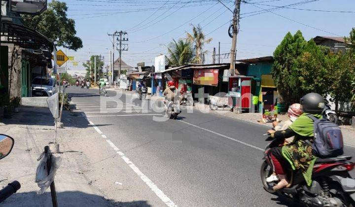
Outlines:
<svg viewBox="0 0 355 207"><path fill-rule="evenodd" d="M108 107L120 100L122 111L101 113L98 90L71 86L67 91L76 103L73 112L84 112L178 206L295 205L262 188L267 127L198 110L183 110L178 120L153 121L163 113L142 106L135 95L117 97L114 91L108 91ZM354 148L345 151L355 156Z"/></svg>

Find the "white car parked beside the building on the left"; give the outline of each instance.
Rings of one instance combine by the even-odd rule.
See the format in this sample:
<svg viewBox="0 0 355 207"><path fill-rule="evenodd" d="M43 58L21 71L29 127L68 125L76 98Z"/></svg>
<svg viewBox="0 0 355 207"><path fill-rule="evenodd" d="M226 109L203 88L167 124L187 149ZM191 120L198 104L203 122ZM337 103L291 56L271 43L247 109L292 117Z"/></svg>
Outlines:
<svg viewBox="0 0 355 207"><path fill-rule="evenodd" d="M58 85L54 78L37 76L32 80L32 96L52 96L57 92Z"/></svg>

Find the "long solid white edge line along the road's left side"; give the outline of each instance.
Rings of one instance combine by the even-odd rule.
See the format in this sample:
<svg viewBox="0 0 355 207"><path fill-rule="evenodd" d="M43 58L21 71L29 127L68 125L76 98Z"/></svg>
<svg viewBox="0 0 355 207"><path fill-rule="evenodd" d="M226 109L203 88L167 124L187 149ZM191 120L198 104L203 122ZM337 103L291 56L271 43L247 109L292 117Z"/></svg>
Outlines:
<svg viewBox="0 0 355 207"><path fill-rule="evenodd" d="M94 126L94 128L96 127L95 124L92 123L87 117L85 117L85 119L88 120L88 122L92 126ZM102 132L100 134L102 134ZM102 135L102 136L104 136L104 135ZM155 193L155 195L157 195L158 198L160 198L160 200L162 200L162 202L165 203L165 205L167 205L168 207L177 207L177 205L167 195L165 195L165 193L162 190L160 190L154 184L153 181L151 181L145 174L143 174L142 171L132 161L130 161L130 159L128 159L128 157L126 157L124 155L124 153L121 152L118 149L118 147L116 147L116 145L114 145L114 143L112 143L112 141L110 141L109 139L106 139L106 141L116 151L116 153L121 156L122 160L133 170L133 172L135 172L142 179L142 181L150 188L150 190L152 190Z"/></svg>

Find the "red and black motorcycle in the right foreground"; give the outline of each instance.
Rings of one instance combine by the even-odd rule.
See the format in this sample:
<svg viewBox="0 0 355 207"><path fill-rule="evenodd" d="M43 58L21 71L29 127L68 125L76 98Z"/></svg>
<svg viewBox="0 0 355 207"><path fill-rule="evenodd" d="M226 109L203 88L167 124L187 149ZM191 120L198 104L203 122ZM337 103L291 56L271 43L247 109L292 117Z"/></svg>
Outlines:
<svg viewBox="0 0 355 207"><path fill-rule="evenodd" d="M355 163L349 161L352 157L318 158L313 168L311 186L307 186L300 171L287 169L287 177L291 186L274 191L273 186L277 184L277 181L270 183L266 181L266 178L273 173L270 150L283 143L271 137L266 141L271 142L265 147L260 176L267 192L278 193L312 207L355 206L355 179L349 174L355 166Z"/></svg>

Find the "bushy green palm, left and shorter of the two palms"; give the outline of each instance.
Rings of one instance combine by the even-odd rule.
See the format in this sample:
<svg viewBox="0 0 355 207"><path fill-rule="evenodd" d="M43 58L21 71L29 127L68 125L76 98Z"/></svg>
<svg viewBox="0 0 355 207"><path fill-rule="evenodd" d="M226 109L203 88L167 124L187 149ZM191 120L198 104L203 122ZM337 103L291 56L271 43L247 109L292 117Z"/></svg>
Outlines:
<svg viewBox="0 0 355 207"><path fill-rule="evenodd" d="M179 39L173 41L168 45L168 65L180 66L191 63L194 59L193 47L191 41L188 39Z"/></svg>

